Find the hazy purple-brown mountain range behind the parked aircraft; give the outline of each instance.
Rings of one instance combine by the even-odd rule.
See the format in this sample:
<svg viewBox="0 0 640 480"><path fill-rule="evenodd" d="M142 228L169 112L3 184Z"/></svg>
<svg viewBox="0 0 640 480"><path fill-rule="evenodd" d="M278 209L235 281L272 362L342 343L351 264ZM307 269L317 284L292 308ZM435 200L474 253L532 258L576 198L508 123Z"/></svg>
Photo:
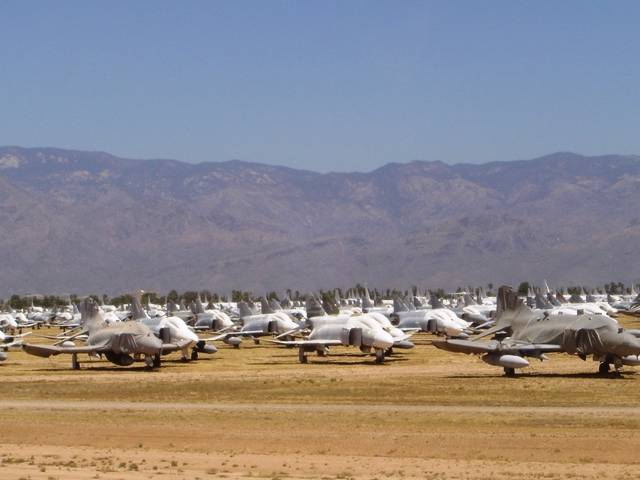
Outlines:
<svg viewBox="0 0 640 480"><path fill-rule="evenodd" d="M0 296L640 277L640 157L316 173L0 147Z"/></svg>

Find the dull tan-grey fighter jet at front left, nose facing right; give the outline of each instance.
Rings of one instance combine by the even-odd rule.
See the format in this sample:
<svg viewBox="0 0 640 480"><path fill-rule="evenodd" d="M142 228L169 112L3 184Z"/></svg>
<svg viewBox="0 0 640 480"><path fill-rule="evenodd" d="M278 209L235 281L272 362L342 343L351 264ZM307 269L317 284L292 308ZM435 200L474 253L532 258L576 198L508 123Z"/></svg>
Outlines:
<svg viewBox="0 0 640 480"><path fill-rule="evenodd" d="M160 355L183 348L182 344L163 343L149 327L138 322L120 322L106 325L98 311L98 305L87 299L81 304L83 329L76 337L88 334L87 344L76 346L71 338L60 344L34 345L24 344L22 349L39 357L50 357L67 353L71 355L71 367L80 368L79 353L104 355L111 363L129 366L135 356L144 356L147 368L160 366Z"/></svg>

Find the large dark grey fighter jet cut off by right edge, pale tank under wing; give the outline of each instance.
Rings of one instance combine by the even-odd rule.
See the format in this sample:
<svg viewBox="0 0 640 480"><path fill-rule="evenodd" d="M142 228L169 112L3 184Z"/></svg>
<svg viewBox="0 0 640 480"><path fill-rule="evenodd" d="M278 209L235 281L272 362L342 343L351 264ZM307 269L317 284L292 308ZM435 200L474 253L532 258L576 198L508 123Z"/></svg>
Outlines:
<svg viewBox="0 0 640 480"><path fill-rule="evenodd" d="M478 340L495 334L490 341ZM536 315L510 287L498 292L496 326L473 340L435 340L433 344L451 352L483 355L490 365L501 366L507 376L529 365L525 357L544 360L545 353L565 352L586 360L593 355L600 373L613 364L640 365L640 340L606 315Z"/></svg>

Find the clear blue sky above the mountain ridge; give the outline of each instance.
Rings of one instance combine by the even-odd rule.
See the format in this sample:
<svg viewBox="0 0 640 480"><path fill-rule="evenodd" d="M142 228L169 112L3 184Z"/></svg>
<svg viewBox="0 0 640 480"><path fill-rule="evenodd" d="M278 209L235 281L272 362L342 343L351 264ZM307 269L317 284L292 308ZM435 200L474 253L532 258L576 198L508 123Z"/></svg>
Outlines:
<svg viewBox="0 0 640 480"><path fill-rule="evenodd" d="M637 1L0 2L0 145L318 171L640 154Z"/></svg>

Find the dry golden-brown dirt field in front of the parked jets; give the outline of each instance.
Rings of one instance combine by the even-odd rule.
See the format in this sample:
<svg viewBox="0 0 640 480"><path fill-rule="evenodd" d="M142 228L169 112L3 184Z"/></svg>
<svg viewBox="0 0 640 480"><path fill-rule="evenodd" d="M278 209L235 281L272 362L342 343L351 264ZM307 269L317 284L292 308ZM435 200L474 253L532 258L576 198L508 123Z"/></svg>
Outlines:
<svg viewBox="0 0 640 480"><path fill-rule="evenodd" d="M415 339L384 365L250 342L153 372L10 352L0 478L640 477L640 371L552 355L505 378Z"/></svg>

